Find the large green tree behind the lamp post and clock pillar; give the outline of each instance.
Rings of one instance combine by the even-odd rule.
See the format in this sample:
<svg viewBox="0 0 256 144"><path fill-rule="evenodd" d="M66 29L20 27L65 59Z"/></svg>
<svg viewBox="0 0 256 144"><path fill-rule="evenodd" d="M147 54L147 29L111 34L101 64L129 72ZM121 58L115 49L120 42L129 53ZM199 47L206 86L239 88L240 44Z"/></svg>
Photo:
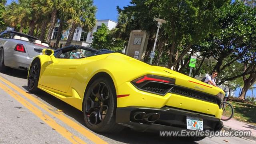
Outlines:
<svg viewBox="0 0 256 144"><path fill-rule="evenodd" d="M200 41L214 30L217 9L229 0L132 0L131 6L118 10L120 18L116 32L120 37L126 36L131 30L142 29L150 34L147 56L150 53L156 34L157 22L153 18L167 21L159 32L156 50L158 58L168 53L168 68L178 70L178 65L192 45ZM147 61L147 58L145 59ZM161 61L161 59L159 59ZM155 61L158 63L158 61ZM177 66L176 66L177 65Z"/></svg>

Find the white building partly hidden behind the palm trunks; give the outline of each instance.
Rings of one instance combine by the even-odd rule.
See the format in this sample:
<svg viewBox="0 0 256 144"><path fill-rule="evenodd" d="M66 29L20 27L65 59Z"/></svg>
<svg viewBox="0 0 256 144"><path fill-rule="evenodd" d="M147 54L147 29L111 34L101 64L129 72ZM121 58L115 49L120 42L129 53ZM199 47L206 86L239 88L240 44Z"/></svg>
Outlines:
<svg viewBox="0 0 256 144"><path fill-rule="evenodd" d="M102 26L102 23L105 24L108 27L108 29L110 29L110 30L115 28L116 24L117 24L116 22L114 22L112 20L97 20L96 26L92 29L91 32L85 32L84 30L82 30L81 27L78 27L75 30L71 44L77 44L77 45L81 45L81 46L90 46L90 44L92 43L92 38L93 38L92 34L94 32L97 32L97 30ZM58 26L56 26L52 32L52 39L51 39L51 43L50 43L50 45L52 47L54 47L56 44L57 33L58 33ZM62 31L62 37L61 37L61 40L58 45L59 48L62 48L65 46L66 40L68 38L68 34L69 34L69 29Z"/></svg>

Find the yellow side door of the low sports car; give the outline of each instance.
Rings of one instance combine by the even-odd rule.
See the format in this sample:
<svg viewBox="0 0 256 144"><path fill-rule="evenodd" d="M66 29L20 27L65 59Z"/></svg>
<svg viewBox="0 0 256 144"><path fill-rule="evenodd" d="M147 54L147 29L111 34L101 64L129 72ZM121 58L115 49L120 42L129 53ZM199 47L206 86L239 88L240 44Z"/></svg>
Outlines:
<svg viewBox="0 0 256 144"><path fill-rule="evenodd" d="M60 92L68 92L70 83L76 75L76 70L82 63L82 59L70 59L71 51L58 56L52 64L47 66L42 74L40 84Z"/></svg>

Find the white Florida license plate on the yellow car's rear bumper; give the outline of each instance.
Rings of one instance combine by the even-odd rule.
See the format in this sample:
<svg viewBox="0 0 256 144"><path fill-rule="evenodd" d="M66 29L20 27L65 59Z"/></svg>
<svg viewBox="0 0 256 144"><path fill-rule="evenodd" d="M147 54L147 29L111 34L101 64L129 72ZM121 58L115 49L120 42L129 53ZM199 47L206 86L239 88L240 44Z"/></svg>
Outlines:
<svg viewBox="0 0 256 144"><path fill-rule="evenodd" d="M204 130L203 119L187 116L187 129L188 130Z"/></svg>

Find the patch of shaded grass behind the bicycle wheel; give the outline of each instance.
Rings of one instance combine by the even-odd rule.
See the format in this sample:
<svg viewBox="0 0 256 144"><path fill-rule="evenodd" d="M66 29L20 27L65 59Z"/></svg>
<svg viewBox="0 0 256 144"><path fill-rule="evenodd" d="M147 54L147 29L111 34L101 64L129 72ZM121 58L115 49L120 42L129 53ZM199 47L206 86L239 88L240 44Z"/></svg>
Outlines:
<svg viewBox="0 0 256 144"><path fill-rule="evenodd" d="M256 126L256 105L244 102L232 102L228 101L234 108L233 118L242 122L247 122ZM231 109L223 115L228 116Z"/></svg>

